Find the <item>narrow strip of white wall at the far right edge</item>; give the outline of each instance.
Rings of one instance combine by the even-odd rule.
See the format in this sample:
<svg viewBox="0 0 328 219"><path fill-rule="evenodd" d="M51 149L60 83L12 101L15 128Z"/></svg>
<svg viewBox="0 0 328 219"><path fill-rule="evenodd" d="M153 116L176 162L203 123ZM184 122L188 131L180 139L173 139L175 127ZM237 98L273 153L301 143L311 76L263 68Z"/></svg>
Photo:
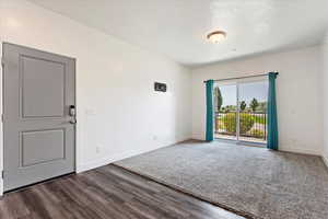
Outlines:
<svg viewBox="0 0 328 219"><path fill-rule="evenodd" d="M324 151L323 157L328 165L328 32L323 43L323 116L324 116Z"/></svg>

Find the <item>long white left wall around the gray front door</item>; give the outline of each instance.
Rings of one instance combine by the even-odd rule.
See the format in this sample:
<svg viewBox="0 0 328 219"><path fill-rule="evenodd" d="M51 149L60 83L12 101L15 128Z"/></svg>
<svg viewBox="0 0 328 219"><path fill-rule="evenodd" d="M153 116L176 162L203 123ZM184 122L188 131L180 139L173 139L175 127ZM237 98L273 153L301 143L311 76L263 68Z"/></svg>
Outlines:
<svg viewBox="0 0 328 219"><path fill-rule="evenodd" d="M77 58L78 171L191 137L189 69L31 2L1 1L2 42Z"/></svg>

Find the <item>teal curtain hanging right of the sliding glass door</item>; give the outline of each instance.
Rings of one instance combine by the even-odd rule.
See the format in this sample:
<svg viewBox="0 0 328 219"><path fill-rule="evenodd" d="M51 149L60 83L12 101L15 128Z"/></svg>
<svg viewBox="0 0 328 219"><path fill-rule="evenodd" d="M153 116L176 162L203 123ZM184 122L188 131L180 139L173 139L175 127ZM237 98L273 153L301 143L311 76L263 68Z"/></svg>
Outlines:
<svg viewBox="0 0 328 219"><path fill-rule="evenodd" d="M278 118L276 101L276 78L277 72L269 73L269 94L268 94L268 148L278 150Z"/></svg>

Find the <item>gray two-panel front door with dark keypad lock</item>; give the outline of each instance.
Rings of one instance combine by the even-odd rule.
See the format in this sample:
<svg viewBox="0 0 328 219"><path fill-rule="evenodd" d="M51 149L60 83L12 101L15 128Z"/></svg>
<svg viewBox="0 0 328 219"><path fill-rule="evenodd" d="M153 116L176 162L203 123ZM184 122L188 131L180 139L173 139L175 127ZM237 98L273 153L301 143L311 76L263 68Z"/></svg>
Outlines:
<svg viewBox="0 0 328 219"><path fill-rule="evenodd" d="M74 59L2 48L4 191L74 172Z"/></svg>

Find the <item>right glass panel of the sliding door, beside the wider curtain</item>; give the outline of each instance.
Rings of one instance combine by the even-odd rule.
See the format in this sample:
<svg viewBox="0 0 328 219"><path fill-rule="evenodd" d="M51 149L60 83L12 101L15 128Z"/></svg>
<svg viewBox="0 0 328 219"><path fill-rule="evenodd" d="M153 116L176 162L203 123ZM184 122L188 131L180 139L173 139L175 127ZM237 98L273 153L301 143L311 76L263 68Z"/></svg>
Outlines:
<svg viewBox="0 0 328 219"><path fill-rule="evenodd" d="M268 81L239 84L239 140L267 142Z"/></svg>

